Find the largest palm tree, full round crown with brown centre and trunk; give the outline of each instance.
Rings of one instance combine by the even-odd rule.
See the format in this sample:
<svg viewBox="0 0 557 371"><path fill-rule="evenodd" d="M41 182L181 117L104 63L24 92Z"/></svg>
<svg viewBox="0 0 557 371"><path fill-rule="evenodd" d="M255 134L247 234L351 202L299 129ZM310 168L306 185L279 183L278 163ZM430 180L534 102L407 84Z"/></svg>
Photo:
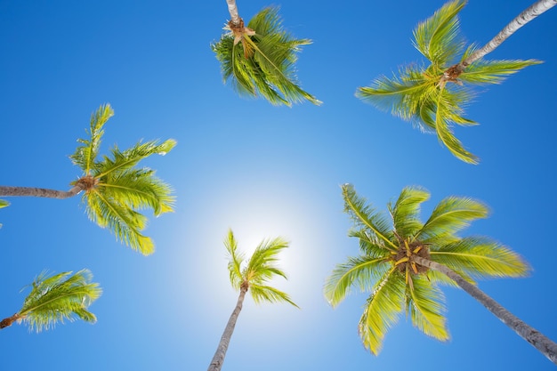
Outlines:
<svg viewBox="0 0 557 371"><path fill-rule="evenodd" d="M475 278L522 277L529 271L518 254L490 238L456 235L473 220L487 217L487 206L471 198L448 197L423 223L420 205L430 194L419 187L407 187L394 206L389 203L389 222L367 205L365 198L359 198L350 184L342 189L344 211L354 222L349 235L359 238L361 254L335 267L327 278L325 295L336 306L351 286L371 292L359 320L359 335L369 351L379 353L384 335L403 310L424 334L448 340L444 297L438 286L450 285L463 288L557 363L556 343L475 286Z"/></svg>

